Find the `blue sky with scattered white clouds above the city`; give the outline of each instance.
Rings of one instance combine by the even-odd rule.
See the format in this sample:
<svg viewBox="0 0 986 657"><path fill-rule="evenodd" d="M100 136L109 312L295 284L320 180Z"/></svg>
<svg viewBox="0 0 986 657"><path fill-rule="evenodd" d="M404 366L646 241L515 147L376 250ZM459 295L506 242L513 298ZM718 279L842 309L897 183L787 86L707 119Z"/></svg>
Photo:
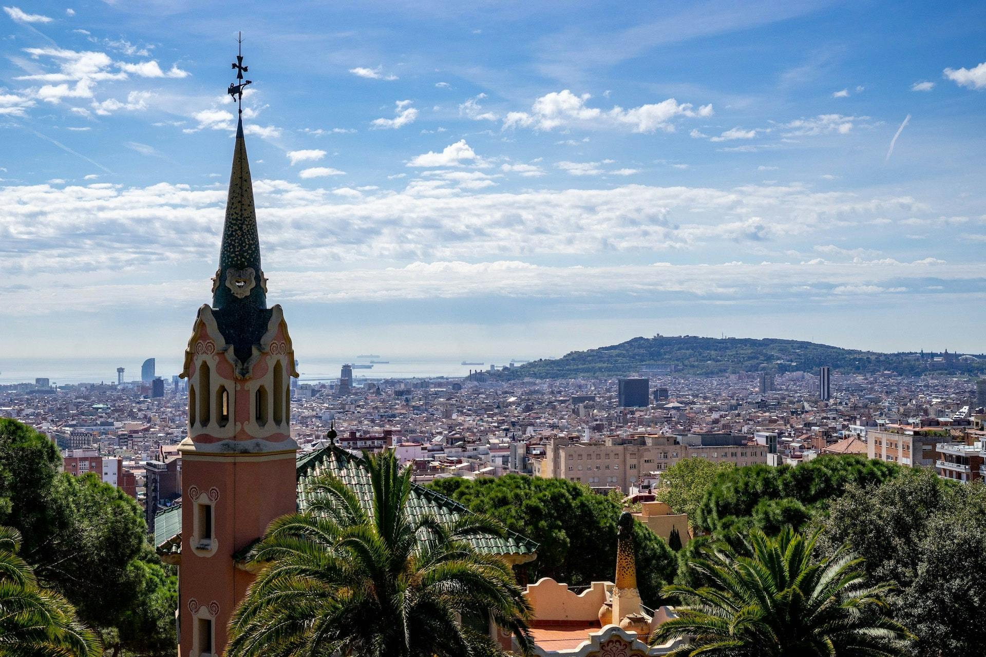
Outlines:
<svg viewBox="0 0 986 657"><path fill-rule="evenodd" d="M238 31L302 360L657 333L986 351L982 2L0 6L0 364L178 360Z"/></svg>

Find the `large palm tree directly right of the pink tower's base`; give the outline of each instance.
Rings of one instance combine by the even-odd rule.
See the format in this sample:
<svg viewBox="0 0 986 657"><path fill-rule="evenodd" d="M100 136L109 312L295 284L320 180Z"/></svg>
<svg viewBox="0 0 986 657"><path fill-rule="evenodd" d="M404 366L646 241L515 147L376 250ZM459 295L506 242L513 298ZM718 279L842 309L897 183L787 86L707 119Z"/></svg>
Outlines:
<svg viewBox="0 0 986 657"><path fill-rule="evenodd" d="M510 566L466 542L503 535L481 515L417 522L409 469L366 456L368 513L340 480L320 478L305 513L283 516L251 551L265 564L230 624L229 657L495 656L489 620L532 648L530 607Z"/></svg>

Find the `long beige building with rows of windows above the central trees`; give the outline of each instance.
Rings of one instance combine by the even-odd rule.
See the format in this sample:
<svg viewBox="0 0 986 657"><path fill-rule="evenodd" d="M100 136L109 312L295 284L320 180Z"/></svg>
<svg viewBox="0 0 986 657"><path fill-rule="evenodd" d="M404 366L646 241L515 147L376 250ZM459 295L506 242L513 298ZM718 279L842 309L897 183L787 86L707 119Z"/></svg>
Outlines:
<svg viewBox="0 0 986 657"><path fill-rule="evenodd" d="M545 445L544 458L534 463L533 474L626 492L642 475L663 472L691 456L753 465L767 462L767 446L729 433L608 436L589 442L556 437Z"/></svg>

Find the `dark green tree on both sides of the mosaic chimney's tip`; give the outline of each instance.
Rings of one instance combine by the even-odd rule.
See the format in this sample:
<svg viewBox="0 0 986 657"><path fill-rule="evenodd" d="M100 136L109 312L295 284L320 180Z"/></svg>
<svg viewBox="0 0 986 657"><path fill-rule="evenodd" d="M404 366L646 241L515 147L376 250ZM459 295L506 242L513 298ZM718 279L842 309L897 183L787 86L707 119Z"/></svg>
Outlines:
<svg viewBox="0 0 986 657"><path fill-rule="evenodd" d="M616 572L616 521L623 509L606 495L563 479L521 475L450 477L429 486L535 541L537 559L518 566L528 580L551 577L580 585L612 580ZM637 586L644 604L657 607L677 561L664 539L646 526L634 523L633 531Z"/></svg>

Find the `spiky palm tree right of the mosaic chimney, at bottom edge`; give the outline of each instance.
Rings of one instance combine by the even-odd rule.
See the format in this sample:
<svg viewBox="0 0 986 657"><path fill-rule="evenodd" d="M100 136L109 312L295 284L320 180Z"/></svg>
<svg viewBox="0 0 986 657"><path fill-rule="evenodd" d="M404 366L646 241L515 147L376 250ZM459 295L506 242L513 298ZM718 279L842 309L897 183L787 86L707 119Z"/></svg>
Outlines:
<svg viewBox="0 0 986 657"><path fill-rule="evenodd" d="M651 636L658 644L683 638L674 657L896 657L914 637L887 615L888 584L870 585L862 559L843 546L811 558L817 533L791 527L769 538L754 529L741 556L728 547L691 562L706 585L667 586L685 601L678 618Z"/></svg>

